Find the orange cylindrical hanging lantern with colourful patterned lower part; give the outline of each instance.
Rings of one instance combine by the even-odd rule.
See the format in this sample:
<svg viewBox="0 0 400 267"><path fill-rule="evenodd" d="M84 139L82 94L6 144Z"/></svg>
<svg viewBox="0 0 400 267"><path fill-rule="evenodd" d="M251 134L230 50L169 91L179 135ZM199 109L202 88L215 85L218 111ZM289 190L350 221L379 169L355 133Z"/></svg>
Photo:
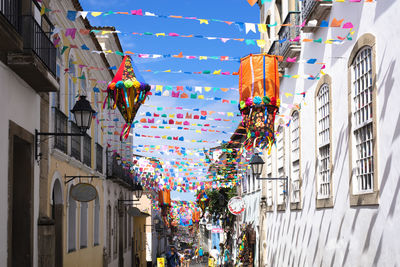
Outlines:
<svg viewBox="0 0 400 267"><path fill-rule="evenodd" d="M239 69L239 110L247 131L243 146L271 146L275 115L279 110L279 72L276 56L250 54L241 59Z"/></svg>

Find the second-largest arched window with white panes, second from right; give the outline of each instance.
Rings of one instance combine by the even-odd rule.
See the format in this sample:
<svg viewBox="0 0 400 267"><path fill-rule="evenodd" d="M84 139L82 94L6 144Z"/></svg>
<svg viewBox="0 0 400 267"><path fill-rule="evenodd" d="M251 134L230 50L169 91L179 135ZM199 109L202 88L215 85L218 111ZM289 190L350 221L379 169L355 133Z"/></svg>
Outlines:
<svg viewBox="0 0 400 267"><path fill-rule="evenodd" d="M317 208L333 206L332 199L332 114L331 78L324 75L317 85L316 108L316 162Z"/></svg>

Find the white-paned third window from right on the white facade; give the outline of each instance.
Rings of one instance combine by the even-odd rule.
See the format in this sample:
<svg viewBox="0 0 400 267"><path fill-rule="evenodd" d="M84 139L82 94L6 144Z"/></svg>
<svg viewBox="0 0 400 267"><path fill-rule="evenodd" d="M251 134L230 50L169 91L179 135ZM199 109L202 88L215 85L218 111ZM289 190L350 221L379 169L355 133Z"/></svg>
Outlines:
<svg viewBox="0 0 400 267"><path fill-rule="evenodd" d="M292 123L290 124L291 137L291 202L300 203L300 125L299 111L292 113Z"/></svg>

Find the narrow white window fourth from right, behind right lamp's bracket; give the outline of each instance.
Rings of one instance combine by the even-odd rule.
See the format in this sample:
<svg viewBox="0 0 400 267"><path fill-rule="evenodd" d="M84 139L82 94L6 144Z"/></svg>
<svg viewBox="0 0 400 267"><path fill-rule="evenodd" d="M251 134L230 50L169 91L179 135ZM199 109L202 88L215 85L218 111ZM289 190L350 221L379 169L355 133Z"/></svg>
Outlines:
<svg viewBox="0 0 400 267"><path fill-rule="evenodd" d="M278 126L276 131L276 166L278 169L278 177L286 177L285 173L285 128L283 126ZM285 181L277 181L277 204L278 209L281 207L279 205L285 204Z"/></svg>

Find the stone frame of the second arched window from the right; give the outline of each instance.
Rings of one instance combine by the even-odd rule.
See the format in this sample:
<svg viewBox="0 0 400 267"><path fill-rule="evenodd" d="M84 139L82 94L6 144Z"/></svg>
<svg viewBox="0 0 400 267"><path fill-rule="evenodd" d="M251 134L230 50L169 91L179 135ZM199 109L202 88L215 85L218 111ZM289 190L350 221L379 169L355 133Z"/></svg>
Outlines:
<svg viewBox="0 0 400 267"><path fill-rule="evenodd" d="M318 141L318 136L319 136L319 128L318 128L318 109L319 109L319 93L321 89L327 85L329 88L328 91L328 101L329 101L329 196L327 198L319 198L318 196L318 181L320 179L319 176L319 141ZM332 137L332 132L333 132L333 126L332 126L332 108L333 108L333 103L332 103L332 78L328 75L325 74L321 77L317 84L317 89L315 90L315 96L314 96L314 102L315 102L315 162L317 166L315 167L315 201L316 201L316 208L332 208L334 206L334 201L333 201L333 137ZM328 143L321 145L321 147L328 145Z"/></svg>

